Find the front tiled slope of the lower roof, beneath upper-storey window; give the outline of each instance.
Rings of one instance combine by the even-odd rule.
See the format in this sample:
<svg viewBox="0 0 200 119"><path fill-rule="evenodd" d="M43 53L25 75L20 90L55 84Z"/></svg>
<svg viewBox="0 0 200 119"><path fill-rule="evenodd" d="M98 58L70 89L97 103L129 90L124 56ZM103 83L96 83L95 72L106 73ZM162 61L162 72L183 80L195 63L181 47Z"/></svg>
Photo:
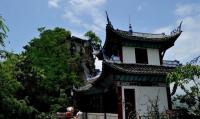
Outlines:
<svg viewBox="0 0 200 119"><path fill-rule="evenodd" d="M117 70L119 72L128 74L153 74L153 75L166 75L173 67L148 65L148 64L125 64L125 63L111 63L103 62L106 66Z"/></svg>

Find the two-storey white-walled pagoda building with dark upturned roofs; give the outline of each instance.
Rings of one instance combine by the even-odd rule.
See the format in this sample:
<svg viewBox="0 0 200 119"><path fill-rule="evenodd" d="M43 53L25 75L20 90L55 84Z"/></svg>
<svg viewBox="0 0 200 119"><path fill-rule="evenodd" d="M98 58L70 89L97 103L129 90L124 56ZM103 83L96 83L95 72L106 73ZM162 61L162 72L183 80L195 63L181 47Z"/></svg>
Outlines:
<svg viewBox="0 0 200 119"><path fill-rule="evenodd" d="M78 108L114 113L118 119L145 115L155 105L159 113L170 110L166 76L174 67L163 65L163 57L181 32L181 24L170 35L134 32L131 25L123 31L115 29L107 16L105 44L97 55L102 72L74 89Z"/></svg>

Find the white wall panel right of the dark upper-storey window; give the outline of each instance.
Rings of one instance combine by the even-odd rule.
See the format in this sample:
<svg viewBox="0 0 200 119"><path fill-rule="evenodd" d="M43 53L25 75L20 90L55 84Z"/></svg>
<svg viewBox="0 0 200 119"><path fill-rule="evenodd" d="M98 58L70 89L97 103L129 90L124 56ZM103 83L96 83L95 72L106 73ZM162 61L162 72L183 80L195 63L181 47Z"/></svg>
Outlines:
<svg viewBox="0 0 200 119"><path fill-rule="evenodd" d="M148 64L160 65L160 56L158 49L147 49Z"/></svg>

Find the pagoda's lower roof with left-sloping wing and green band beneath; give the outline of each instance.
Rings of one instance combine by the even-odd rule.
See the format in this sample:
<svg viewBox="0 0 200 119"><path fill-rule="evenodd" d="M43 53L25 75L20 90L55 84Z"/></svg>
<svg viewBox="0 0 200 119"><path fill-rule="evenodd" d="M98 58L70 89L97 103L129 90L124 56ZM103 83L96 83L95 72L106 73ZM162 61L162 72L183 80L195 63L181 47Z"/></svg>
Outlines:
<svg viewBox="0 0 200 119"><path fill-rule="evenodd" d="M174 67L147 64L124 64L103 61L103 71L101 75L99 77L88 80L84 86L75 89L75 91L84 92L90 90L91 88L94 88L94 85L97 82L105 78L105 76L108 73L108 69L113 70L113 74L116 75L115 80L163 82L163 77L165 77L167 73L171 72L174 69ZM95 90L97 89L95 88Z"/></svg>

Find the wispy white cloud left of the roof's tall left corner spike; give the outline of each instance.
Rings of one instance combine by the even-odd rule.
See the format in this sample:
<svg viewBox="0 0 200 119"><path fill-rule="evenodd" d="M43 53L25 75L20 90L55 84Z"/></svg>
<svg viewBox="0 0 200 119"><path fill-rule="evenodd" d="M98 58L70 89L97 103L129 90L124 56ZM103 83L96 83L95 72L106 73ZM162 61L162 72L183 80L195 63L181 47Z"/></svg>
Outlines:
<svg viewBox="0 0 200 119"><path fill-rule="evenodd" d="M69 0L64 18L87 30L102 32L105 29L104 12L100 10L106 0ZM87 20L83 20L87 18Z"/></svg>

